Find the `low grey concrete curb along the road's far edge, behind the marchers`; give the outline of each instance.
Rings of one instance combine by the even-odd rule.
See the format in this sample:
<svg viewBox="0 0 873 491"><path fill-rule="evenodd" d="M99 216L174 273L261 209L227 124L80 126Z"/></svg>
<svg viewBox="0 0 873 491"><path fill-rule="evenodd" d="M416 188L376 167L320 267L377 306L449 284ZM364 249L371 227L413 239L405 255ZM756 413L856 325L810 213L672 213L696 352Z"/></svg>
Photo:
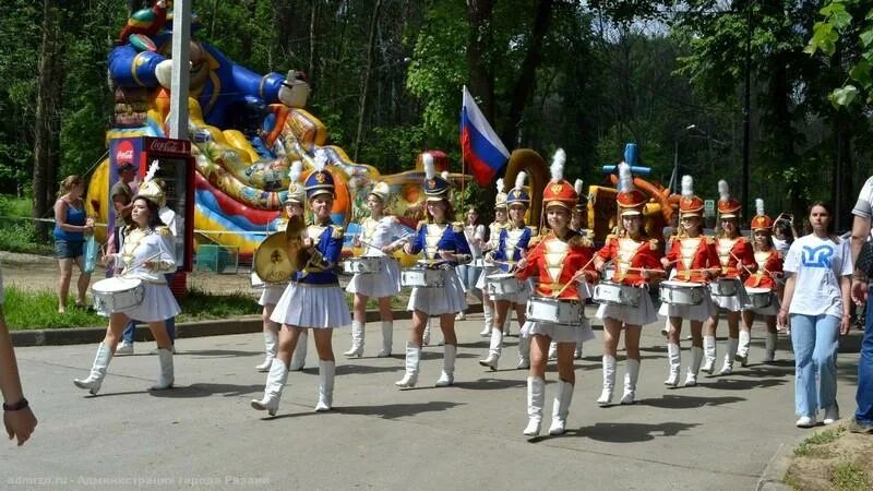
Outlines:
<svg viewBox="0 0 873 491"><path fill-rule="evenodd" d="M467 313L481 313L481 303L467 307ZM368 310L367 322L376 322L381 318L379 311ZM394 320L404 321L412 319L412 312L395 310ZM242 315L234 319L212 319L207 321L182 322L176 324L176 337L204 337L220 336L226 334L260 333L264 328L261 315ZM89 345L99 343L106 336L106 327L72 327L58 330L27 330L13 331L12 345L15 347L28 346L59 346L59 345ZM133 335L135 342L153 340L148 326L137 324Z"/></svg>

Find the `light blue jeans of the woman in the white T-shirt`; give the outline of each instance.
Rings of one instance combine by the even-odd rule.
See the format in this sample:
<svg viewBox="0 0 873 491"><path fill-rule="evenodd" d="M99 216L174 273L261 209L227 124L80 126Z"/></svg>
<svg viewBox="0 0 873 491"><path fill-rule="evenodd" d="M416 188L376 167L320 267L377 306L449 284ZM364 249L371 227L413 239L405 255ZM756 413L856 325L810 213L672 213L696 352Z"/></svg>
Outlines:
<svg viewBox="0 0 873 491"><path fill-rule="evenodd" d="M837 400L839 318L791 314L794 348L794 412L815 417ZM816 390L815 379L818 378Z"/></svg>

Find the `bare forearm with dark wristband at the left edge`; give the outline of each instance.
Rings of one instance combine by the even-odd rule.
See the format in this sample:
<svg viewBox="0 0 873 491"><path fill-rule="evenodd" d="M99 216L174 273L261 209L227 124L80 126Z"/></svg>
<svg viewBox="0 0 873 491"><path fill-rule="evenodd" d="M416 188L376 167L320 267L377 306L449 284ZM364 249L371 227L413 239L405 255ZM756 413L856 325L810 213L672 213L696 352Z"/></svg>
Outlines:
<svg viewBox="0 0 873 491"><path fill-rule="evenodd" d="M3 394L3 426L9 439L17 439L19 446L31 438L36 428L36 417L21 388L19 364L3 315L3 275L0 273L0 392Z"/></svg>

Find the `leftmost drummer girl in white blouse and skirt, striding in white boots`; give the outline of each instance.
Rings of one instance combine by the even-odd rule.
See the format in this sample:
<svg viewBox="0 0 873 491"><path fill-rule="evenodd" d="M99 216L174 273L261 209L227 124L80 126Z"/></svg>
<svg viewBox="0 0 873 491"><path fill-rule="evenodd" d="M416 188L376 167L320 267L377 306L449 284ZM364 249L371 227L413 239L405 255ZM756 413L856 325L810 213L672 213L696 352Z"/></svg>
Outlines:
<svg viewBox="0 0 873 491"><path fill-rule="evenodd" d="M150 169L148 175L152 173L153 170ZM109 313L109 327L106 330L103 343L97 347L97 356L94 358L91 373L85 379L73 380L76 387L87 388L91 394L99 392L106 376L106 369L121 339L121 333L131 319L147 323L158 347L160 375L151 390L171 388L175 382L172 343L167 335L164 321L179 314L179 304L172 297L164 274L176 271L176 254L172 233L160 221L158 215L158 202L164 191L148 175L140 185L140 193L132 203L133 224L129 225L125 230L121 251L113 254L116 264L123 265L123 271L117 275L118 277L142 282L142 301L134 307Z"/></svg>

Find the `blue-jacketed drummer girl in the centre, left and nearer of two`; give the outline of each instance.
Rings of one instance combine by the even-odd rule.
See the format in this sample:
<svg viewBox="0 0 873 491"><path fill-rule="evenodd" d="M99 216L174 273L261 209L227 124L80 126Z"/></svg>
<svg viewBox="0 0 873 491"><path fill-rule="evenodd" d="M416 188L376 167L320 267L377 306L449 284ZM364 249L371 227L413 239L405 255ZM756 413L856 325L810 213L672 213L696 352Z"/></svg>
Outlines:
<svg viewBox="0 0 873 491"><path fill-rule="evenodd" d="M467 300L461 278L455 273L458 263L470 260L470 249L464 237L464 224L451 223L454 215L449 193L447 172L436 176L433 157L423 154L424 194L428 219L418 224L415 238L404 246L407 254L424 252L424 260L431 265L439 264L442 286L415 287L409 296L407 310L412 311L412 331L406 343L406 372L403 379L394 384L402 388L415 387L418 382L418 364L421 356L424 324L430 316L440 318L443 332L443 370L436 381L438 387L445 387L455 382L455 356L457 355L457 336L455 336L455 315L467 308ZM442 263L440 263L442 261Z"/></svg>

